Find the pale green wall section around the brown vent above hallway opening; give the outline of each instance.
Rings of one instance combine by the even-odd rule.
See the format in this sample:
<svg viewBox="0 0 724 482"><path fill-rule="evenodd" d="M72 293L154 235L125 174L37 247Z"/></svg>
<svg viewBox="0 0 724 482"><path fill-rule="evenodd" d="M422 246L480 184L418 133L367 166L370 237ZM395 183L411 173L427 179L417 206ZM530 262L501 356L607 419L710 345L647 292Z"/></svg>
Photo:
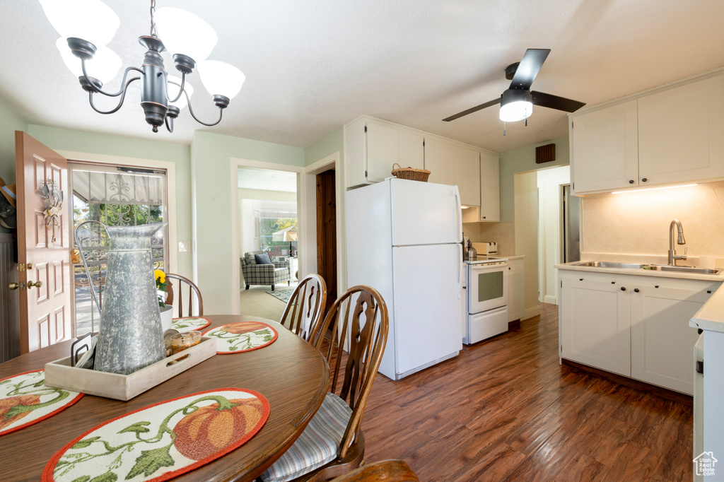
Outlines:
<svg viewBox="0 0 724 482"><path fill-rule="evenodd" d="M555 161L536 164L536 147L550 143L555 143ZM515 192L513 190L515 174L555 166L567 166L568 164L571 164L568 136L500 153L500 222L510 223L515 220Z"/></svg>

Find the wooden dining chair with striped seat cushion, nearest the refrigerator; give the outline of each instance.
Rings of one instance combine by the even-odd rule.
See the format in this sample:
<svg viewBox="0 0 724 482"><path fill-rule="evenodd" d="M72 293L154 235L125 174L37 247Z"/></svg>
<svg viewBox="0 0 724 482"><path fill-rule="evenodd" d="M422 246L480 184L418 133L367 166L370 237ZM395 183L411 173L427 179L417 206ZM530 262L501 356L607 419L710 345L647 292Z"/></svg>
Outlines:
<svg viewBox="0 0 724 482"><path fill-rule="evenodd" d="M329 393L299 438L261 475L265 482L328 481L364 460L360 427L387 343L387 305L376 289L351 287L313 329L309 341L318 349L329 326L332 339L322 350L332 370Z"/></svg>

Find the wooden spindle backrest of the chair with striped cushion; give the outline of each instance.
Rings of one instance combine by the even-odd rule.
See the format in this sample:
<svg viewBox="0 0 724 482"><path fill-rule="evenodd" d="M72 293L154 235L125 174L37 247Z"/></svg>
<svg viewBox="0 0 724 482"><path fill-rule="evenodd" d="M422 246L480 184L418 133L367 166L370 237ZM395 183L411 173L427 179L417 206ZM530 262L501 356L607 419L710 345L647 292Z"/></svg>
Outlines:
<svg viewBox="0 0 724 482"><path fill-rule="evenodd" d="M324 334L332 326L332 339L324 354L332 370L329 391L345 400L352 409L350 421L337 449L338 458L347 455L358 434L367 397L387 343L389 323L387 305L382 295L369 286L355 286L334 301L324 322L311 335L311 344L321 350ZM348 344L348 355L342 352L345 343ZM343 359L344 373L340 376ZM340 389L337 390L340 383Z"/></svg>

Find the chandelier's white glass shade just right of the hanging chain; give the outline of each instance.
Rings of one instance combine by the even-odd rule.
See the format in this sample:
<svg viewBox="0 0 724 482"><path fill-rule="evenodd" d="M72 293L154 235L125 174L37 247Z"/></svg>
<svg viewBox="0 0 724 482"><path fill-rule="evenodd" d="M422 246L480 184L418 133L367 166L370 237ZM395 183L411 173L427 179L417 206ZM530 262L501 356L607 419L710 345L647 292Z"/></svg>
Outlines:
<svg viewBox="0 0 724 482"><path fill-rule="evenodd" d="M191 12L175 7L156 10L159 38L170 54L190 56L196 64L206 60L219 38L211 25Z"/></svg>

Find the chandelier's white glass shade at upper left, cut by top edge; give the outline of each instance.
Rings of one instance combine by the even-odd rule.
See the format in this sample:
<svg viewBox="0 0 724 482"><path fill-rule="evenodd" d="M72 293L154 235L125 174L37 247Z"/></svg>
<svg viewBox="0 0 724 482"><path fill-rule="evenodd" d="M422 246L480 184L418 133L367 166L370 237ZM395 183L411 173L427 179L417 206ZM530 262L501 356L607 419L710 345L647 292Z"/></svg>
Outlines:
<svg viewBox="0 0 724 482"><path fill-rule="evenodd" d="M49 22L62 37L83 38L96 47L107 45L121 25L116 12L101 0L39 1Z"/></svg>

